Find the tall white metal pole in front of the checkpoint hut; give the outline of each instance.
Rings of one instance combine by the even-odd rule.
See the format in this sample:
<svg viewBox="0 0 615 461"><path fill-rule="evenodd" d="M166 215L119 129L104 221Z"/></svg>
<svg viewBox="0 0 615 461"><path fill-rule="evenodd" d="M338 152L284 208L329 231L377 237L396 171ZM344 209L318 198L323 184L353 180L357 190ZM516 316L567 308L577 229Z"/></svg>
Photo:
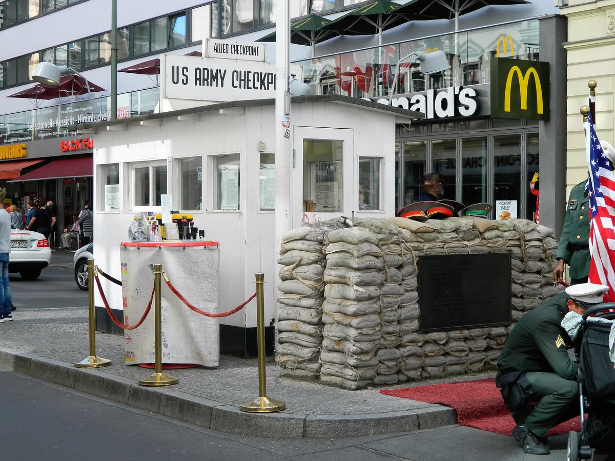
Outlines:
<svg viewBox="0 0 615 461"><path fill-rule="evenodd" d="M276 2L276 226L274 260L279 256L282 236L292 229L289 74L290 15L288 0Z"/></svg>

